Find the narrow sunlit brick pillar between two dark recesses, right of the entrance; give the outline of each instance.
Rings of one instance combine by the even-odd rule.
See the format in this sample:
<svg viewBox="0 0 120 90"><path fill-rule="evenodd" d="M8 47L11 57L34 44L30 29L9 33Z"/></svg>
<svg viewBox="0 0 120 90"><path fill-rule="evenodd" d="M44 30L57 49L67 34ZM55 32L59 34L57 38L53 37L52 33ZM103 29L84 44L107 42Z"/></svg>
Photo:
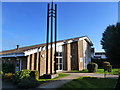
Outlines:
<svg viewBox="0 0 120 90"><path fill-rule="evenodd" d="M67 71L71 71L71 45L67 44Z"/></svg>

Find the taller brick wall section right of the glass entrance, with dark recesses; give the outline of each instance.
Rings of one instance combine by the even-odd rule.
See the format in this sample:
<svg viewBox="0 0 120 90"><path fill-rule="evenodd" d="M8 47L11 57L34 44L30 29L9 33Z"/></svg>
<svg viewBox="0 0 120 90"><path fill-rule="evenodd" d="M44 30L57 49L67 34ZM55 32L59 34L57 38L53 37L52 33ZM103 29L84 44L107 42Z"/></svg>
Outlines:
<svg viewBox="0 0 120 90"><path fill-rule="evenodd" d="M83 70L91 61L91 46L85 40L75 41L63 45L64 70Z"/></svg>

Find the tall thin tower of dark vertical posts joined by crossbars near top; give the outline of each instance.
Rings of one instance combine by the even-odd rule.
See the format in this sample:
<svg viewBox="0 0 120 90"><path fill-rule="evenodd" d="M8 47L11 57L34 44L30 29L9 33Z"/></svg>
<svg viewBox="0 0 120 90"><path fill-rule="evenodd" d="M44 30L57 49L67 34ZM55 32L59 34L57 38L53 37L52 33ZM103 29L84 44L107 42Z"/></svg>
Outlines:
<svg viewBox="0 0 120 90"><path fill-rule="evenodd" d="M53 34L54 32L54 34ZM54 37L53 37L54 36ZM50 44L49 44L50 38ZM53 53L53 40L55 51ZM54 55L54 73L56 74L56 41L57 41L57 4L48 3L47 6L47 38L46 38L46 74L48 74L48 46L50 45L50 74L53 72L53 55Z"/></svg>

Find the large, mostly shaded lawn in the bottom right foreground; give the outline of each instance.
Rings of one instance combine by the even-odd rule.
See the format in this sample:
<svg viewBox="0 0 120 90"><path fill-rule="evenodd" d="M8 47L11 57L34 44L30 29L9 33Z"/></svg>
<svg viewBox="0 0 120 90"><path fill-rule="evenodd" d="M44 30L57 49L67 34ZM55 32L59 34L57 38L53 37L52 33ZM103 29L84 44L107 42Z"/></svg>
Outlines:
<svg viewBox="0 0 120 90"><path fill-rule="evenodd" d="M114 88L117 79L79 77L60 88Z"/></svg>

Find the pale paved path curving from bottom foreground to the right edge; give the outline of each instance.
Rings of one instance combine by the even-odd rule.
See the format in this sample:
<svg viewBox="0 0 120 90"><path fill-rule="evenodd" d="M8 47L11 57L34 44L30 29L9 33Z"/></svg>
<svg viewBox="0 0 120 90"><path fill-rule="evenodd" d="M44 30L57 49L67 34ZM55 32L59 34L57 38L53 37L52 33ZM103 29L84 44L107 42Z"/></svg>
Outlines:
<svg viewBox="0 0 120 90"><path fill-rule="evenodd" d="M91 76L91 77L104 78L104 74L95 74L95 73L66 73L66 74L70 74L70 75L63 77L63 78L59 78L58 80L53 80L51 82L42 84L38 88L58 88L62 86L63 84L70 82L71 80L76 79L80 76ZM106 75L106 78L118 79L118 75Z"/></svg>

